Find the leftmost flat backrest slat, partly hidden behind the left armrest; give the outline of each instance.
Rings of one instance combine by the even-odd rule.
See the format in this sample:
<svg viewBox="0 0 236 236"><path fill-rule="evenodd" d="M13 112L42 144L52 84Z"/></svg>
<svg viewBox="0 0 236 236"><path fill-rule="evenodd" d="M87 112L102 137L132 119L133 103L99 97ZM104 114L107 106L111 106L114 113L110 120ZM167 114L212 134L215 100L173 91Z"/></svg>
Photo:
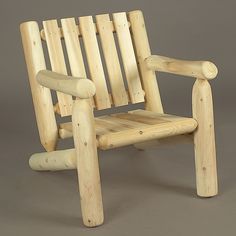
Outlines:
<svg viewBox="0 0 236 236"><path fill-rule="evenodd" d="M52 71L67 75L57 20L43 21L43 27ZM57 92L57 98L61 116L71 115L73 104L72 97L70 95Z"/></svg>

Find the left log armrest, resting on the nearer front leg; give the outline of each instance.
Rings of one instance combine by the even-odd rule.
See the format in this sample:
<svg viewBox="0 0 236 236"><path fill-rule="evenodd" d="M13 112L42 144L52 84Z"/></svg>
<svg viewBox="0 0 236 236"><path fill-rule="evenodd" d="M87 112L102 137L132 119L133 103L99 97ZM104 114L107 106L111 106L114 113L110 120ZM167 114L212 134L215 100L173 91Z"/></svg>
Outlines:
<svg viewBox="0 0 236 236"><path fill-rule="evenodd" d="M39 84L44 87L82 99L90 98L94 96L96 92L94 83L85 78L77 78L48 70L41 70L36 75L36 79Z"/></svg>

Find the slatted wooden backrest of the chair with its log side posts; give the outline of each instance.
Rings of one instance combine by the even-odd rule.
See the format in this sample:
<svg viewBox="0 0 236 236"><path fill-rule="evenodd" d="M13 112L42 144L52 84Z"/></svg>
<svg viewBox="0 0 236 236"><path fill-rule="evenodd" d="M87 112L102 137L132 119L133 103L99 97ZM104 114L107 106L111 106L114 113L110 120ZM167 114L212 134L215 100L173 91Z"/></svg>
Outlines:
<svg viewBox="0 0 236 236"><path fill-rule="evenodd" d="M96 109L145 102L146 109L162 112L155 73L144 65L144 59L151 53L142 12L114 13L112 20L109 14L103 14L96 15L95 21L92 16L79 17L78 23L76 21L75 18L62 19L61 26L57 20L43 21L41 30L36 22L22 24L25 57L36 100L34 104L45 101L49 104L47 109L53 109L50 91L35 82L37 72L46 69L42 47L42 42L46 42L51 64L47 69L62 74L70 71L72 76L93 80ZM81 48L85 51L84 56ZM67 68L65 58L68 58L70 68ZM60 92L57 92L57 98L54 111L61 116L71 115L73 98Z"/></svg>

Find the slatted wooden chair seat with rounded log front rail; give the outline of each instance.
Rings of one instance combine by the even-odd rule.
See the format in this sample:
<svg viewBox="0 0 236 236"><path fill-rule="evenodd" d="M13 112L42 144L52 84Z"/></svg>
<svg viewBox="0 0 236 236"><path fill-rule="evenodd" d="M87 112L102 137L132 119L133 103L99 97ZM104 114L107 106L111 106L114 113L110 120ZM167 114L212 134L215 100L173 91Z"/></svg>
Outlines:
<svg viewBox="0 0 236 236"><path fill-rule="evenodd" d="M105 150L152 139L193 132L193 118L160 114L146 110L116 113L95 118L98 147ZM60 124L62 138L72 137L72 124Z"/></svg>

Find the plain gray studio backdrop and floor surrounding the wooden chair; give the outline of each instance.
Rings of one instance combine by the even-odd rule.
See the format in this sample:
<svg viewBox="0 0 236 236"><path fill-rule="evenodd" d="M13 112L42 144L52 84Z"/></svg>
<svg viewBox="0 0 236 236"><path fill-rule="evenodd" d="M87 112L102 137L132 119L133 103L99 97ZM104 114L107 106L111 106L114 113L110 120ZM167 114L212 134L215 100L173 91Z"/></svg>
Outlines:
<svg viewBox="0 0 236 236"><path fill-rule="evenodd" d="M211 85L220 194L196 197L192 145L100 152L105 224L87 229L81 224L76 172L38 173L28 167L30 154L43 149L19 24L135 9L144 12L153 54L218 65L218 78ZM0 234L235 235L235 9L234 0L2 0ZM159 75L167 113L191 116L193 82Z"/></svg>

